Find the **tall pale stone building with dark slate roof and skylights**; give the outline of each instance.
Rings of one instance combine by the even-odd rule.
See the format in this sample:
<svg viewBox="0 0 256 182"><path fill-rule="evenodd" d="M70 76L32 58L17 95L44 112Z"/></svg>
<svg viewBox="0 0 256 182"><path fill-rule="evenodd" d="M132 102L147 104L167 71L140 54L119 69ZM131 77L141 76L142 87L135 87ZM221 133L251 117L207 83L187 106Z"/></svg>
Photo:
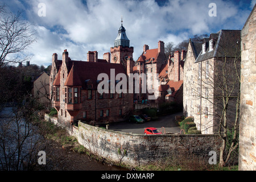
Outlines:
<svg viewBox="0 0 256 182"><path fill-rule="evenodd" d="M203 42L189 41L184 66L183 108L184 114L194 118L197 129L203 134L217 133L224 107L222 98L228 98L228 125L231 127L234 121L240 89L236 84L236 71L240 73L241 61L240 33L240 30L220 30ZM227 96L222 95L223 90Z"/></svg>

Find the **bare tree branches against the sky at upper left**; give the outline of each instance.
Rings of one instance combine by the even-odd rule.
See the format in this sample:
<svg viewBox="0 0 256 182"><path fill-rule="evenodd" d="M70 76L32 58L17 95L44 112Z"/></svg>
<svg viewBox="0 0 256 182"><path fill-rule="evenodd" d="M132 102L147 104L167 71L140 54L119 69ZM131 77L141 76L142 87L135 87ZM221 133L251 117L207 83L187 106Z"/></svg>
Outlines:
<svg viewBox="0 0 256 182"><path fill-rule="evenodd" d="M22 13L14 15L0 4L0 67L3 63L19 63L30 56L24 53L35 42L32 25L22 20Z"/></svg>

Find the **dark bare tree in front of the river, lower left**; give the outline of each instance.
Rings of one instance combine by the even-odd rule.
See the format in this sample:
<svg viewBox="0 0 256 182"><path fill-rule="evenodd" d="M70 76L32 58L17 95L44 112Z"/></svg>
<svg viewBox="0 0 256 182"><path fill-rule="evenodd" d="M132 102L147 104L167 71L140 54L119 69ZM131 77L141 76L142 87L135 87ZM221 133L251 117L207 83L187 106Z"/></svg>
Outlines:
<svg viewBox="0 0 256 182"><path fill-rule="evenodd" d="M5 107L0 113L0 169L26 170L37 163L37 154L44 150L44 138L35 125L33 115L37 102L27 102L14 107Z"/></svg>

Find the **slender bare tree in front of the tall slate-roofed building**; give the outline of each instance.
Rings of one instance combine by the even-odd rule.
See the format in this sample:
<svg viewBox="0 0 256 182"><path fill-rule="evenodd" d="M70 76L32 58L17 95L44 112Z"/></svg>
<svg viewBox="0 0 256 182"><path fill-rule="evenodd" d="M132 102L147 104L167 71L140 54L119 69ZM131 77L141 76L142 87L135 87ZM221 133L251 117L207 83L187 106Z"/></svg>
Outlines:
<svg viewBox="0 0 256 182"><path fill-rule="evenodd" d="M230 157L238 147L238 129L240 115L240 69L241 51L240 41L232 47L230 44L219 44L221 53L218 57L196 64L197 75L194 84L189 90L194 101L198 104L195 114L200 118L200 130L203 118L208 117L204 125L213 127L216 134L220 134L222 145L220 147L220 166L229 163ZM233 56L230 56L230 55ZM211 108L204 107L208 102ZM208 110L209 109L209 110Z"/></svg>

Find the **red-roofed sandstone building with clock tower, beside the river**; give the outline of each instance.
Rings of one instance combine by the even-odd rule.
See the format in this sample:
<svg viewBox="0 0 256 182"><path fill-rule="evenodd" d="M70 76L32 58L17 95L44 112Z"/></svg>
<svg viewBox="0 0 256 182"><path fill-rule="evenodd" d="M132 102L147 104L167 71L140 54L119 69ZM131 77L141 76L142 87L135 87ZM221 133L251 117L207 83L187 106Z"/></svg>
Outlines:
<svg viewBox="0 0 256 182"><path fill-rule="evenodd" d="M125 34L123 26L119 28L118 35L120 33ZM132 93L117 93L116 90L112 93L110 86L109 92L98 92L98 84L103 81L98 80L101 73L105 73L108 82L116 86L120 81L115 80L119 73L127 75L132 72L133 47L130 47L126 35L124 38L125 43L123 37L118 36L111 48L113 55L105 53L104 59L98 59L97 51L89 51L87 61L71 60L67 49L61 60L53 53L50 93L52 105L58 111L58 122L62 126L70 127L78 120L96 121L96 124L117 122L133 109ZM115 57L114 61L111 57Z"/></svg>

